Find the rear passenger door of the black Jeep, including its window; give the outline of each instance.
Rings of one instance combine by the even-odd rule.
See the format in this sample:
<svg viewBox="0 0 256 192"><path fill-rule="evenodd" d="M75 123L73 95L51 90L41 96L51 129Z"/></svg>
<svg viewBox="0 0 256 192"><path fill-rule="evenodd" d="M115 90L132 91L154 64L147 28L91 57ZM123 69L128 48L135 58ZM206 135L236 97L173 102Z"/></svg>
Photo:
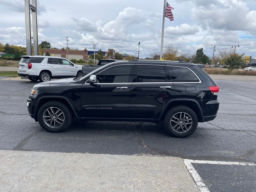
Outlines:
<svg viewBox="0 0 256 192"><path fill-rule="evenodd" d="M130 91L131 118L158 119L175 91L164 65L136 65L137 76Z"/></svg>

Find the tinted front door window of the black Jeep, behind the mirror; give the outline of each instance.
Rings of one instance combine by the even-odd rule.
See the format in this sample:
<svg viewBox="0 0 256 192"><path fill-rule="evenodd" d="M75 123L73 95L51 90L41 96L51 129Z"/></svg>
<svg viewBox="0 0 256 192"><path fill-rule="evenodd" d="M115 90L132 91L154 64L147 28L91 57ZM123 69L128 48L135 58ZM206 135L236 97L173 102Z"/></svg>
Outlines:
<svg viewBox="0 0 256 192"><path fill-rule="evenodd" d="M128 83L131 70L132 65L110 67L97 75L97 83Z"/></svg>

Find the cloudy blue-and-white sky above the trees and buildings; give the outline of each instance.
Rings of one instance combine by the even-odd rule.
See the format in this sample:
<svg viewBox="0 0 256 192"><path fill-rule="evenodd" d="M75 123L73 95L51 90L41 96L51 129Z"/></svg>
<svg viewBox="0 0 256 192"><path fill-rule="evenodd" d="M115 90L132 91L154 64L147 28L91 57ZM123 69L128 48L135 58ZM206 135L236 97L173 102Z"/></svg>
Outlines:
<svg viewBox="0 0 256 192"><path fill-rule="evenodd" d="M39 43L82 50L114 48L140 56L160 50L164 0L38 0ZM240 44L256 57L256 0L168 0L174 21L165 19L164 46L193 54ZM0 0L0 42L25 46L24 0Z"/></svg>

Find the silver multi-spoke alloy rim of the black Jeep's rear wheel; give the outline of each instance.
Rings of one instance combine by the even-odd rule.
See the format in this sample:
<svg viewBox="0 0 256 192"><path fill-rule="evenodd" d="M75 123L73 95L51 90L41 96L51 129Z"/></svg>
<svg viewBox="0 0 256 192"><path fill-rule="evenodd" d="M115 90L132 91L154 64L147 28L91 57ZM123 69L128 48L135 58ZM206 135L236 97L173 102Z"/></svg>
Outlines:
<svg viewBox="0 0 256 192"><path fill-rule="evenodd" d="M193 121L189 114L178 112L172 116L170 121L172 129L177 133L185 133L192 127Z"/></svg>

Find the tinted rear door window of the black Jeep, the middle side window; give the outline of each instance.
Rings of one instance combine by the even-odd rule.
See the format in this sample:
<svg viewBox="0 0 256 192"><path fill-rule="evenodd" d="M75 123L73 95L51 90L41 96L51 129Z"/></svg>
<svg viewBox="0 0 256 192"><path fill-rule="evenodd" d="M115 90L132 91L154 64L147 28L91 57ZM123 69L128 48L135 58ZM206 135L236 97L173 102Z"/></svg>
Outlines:
<svg viewBox="0 0 256 192"><path fill-rule="evenodd" d="M166 74L163 66L138 65L137 82L165 82Z"/></svg>

